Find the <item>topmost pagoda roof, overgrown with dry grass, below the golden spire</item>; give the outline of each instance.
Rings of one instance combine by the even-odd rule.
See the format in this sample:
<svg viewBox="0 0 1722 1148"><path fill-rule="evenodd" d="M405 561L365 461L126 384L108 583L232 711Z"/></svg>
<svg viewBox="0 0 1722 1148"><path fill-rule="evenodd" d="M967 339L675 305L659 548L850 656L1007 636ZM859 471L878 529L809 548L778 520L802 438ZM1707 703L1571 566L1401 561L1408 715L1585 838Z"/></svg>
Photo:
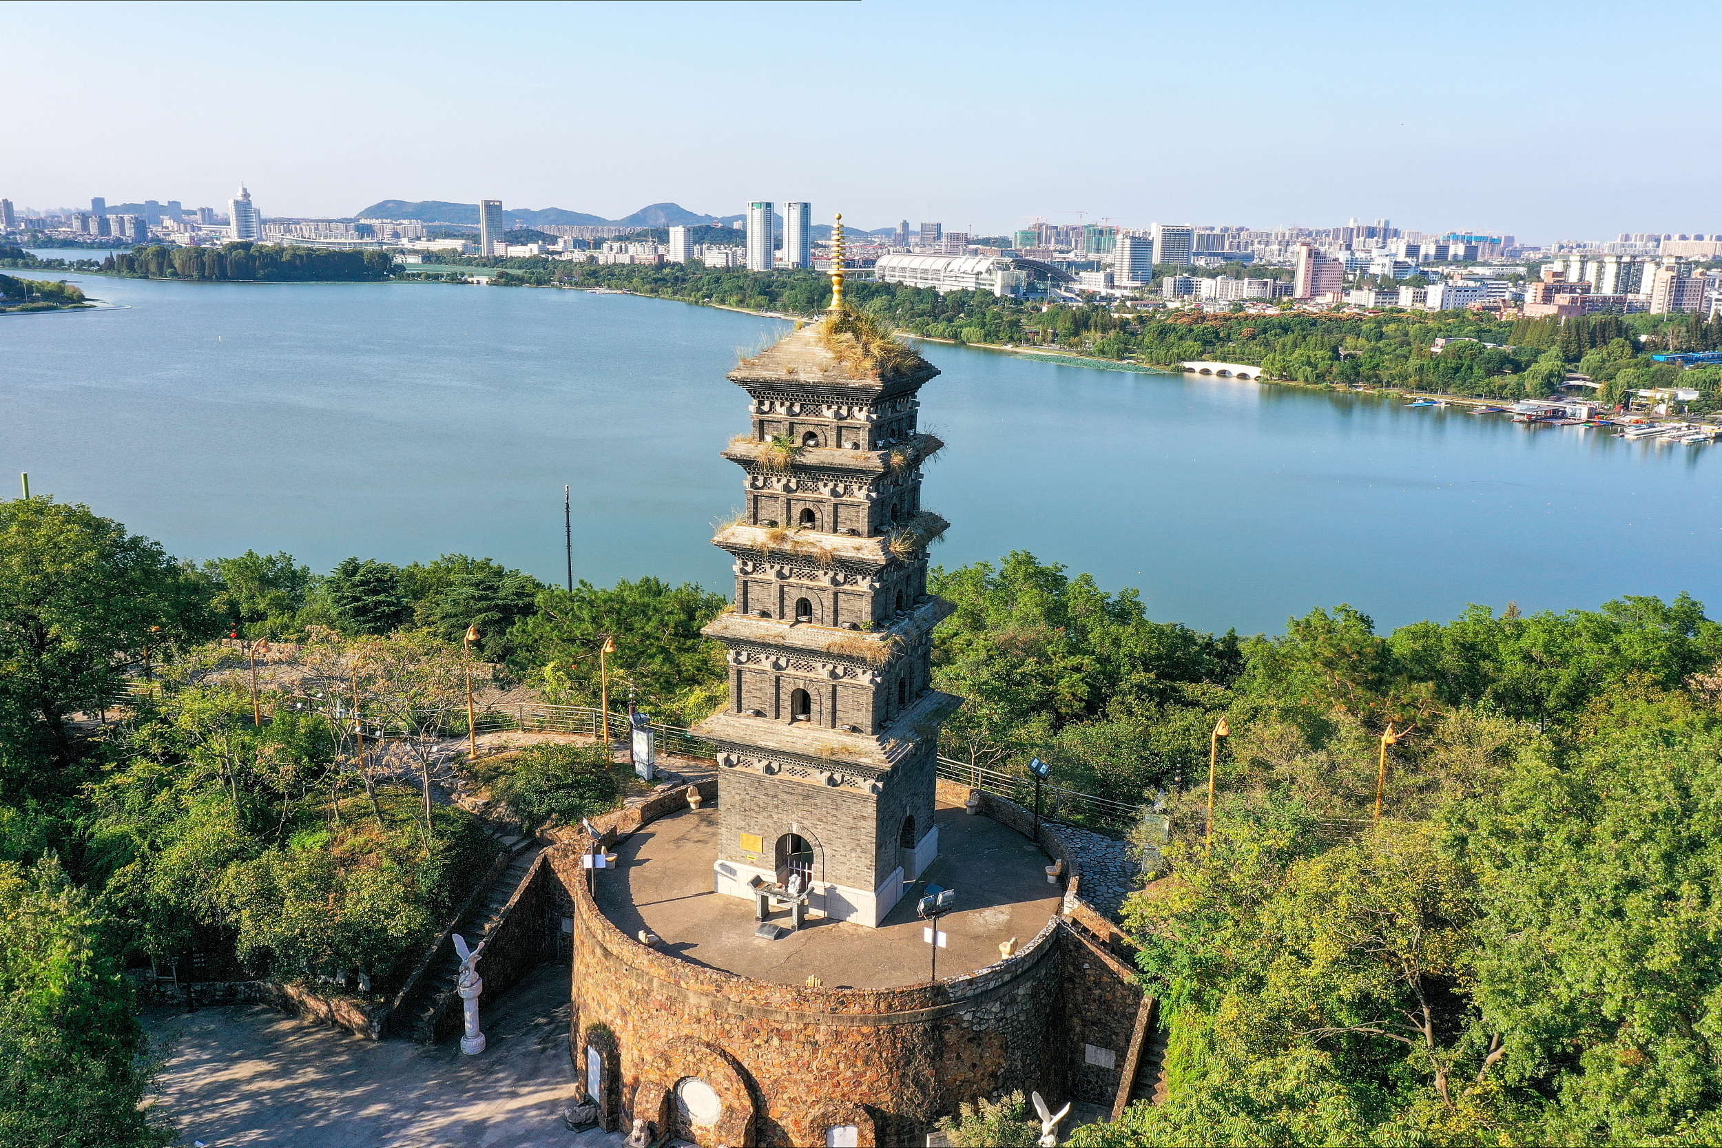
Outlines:
<svg viewBox="0 0 1722 1148"><path fill-rule="evenodd" d="M938 368L920 353L882 334L871 320L847 312L784 336L732 370L728 379L744 387L770 384L883 392L920 386L937 373Z"/></svg>

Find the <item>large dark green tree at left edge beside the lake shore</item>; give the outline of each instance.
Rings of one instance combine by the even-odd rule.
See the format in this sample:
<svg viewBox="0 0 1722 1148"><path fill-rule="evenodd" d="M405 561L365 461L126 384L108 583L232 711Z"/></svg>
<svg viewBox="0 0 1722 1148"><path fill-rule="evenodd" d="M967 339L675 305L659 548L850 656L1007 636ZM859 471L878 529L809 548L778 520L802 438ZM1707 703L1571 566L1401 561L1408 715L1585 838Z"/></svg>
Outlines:
<svg viewBox="0 0 1722 1148"><path fill-rule="evenodd" d="M215 632L207 594L157 542L88 506L0 503L0 756L69 766L74 713L112 706L146 649L160 659ZM43 783L5 778L12 793Z"/></svg>

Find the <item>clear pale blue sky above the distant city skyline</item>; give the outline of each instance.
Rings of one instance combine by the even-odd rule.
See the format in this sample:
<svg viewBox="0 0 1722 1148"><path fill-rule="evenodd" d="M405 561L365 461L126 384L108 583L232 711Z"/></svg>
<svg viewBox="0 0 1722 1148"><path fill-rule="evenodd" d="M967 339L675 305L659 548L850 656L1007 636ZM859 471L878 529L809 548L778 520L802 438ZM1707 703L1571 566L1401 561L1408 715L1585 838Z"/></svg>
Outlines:
<svg viewBox="0 0 1722 1148"><path fill-rule="evenodd" d="M9 2L0 21L22 112L0 194L21 207L219 205L243 177L281 215L794 198L980 232L1076 212L1722 232L1713 2Z"/></svg>

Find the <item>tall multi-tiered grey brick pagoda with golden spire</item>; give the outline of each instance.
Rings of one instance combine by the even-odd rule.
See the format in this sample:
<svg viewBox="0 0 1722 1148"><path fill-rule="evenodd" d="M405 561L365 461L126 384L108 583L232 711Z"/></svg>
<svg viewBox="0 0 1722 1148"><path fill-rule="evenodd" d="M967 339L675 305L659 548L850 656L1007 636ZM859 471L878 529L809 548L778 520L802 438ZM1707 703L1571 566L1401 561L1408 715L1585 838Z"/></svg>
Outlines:
<svg viewBox="0 0 1722 1148"><path fill-rule="evenodd" d="M735 556L735 602L706 626L728 647L728 706L697 726L718 747L716 892L808 883L809 907L878 926L938 854L938 725L961 699L932 688L916 429L938 373L842 301L842 217L827 317L730 379L751 434L723 456L746 509L713 539Z"/></svg>

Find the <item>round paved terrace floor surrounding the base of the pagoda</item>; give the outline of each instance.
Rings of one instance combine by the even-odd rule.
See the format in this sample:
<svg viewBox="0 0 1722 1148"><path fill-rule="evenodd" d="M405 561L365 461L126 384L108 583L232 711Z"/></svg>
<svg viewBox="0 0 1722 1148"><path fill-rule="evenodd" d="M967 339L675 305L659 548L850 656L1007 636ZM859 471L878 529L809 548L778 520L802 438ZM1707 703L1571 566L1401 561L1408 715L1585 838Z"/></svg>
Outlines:
<svg viewBox="0 0 1722 1148"><path fill-rule="evenodd" d="M928 979L932 952L914 902L933 883L957 890L959 905L940 921L949 947L938 950L938 979L963 976L997 964L1000 941L1026 945L1040 933L1057 916L1062 888L1047 883L1047 854L1016 830L944 802L935 818L938 859L876 929L811 914L799 933L754 936L753 900L713 892L716 802L658 818L616 845L616 869L594 873L598 907L629 936L651 929L663 938L660 950L737 976L892 988ZM787 928L789 912L771 921Z"/></svg>

